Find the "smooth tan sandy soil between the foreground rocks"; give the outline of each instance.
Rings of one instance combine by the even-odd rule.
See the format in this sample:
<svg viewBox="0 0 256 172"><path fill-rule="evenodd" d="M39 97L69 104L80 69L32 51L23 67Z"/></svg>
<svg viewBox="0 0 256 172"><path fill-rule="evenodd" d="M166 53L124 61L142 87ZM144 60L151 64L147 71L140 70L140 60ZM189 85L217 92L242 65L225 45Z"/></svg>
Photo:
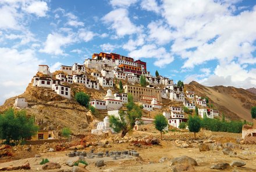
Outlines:
<svg viewBox="0 0 256 172"><path fill-rule="evenodd" d="M149 133L144 131L136 131L132 133L132 135L136 136L145 136ZM158 133L151 133L152 135L156 135ZM161 141L161 145L151 145L151 146L142 146L142 147L135 147L133 144L126 142L122 144L111 144L111 148L101 148L96 147L95 152L103 152L106 150L109 151L122 151L122 150L129 150L135 149L142 160L139 158L133 159L119 159L119 160L112 160L112 158L104 158L105 166L104 167L95 167L94 162L98 159L86 159L89 165L86 167L89 171L104 171L107 169L112 169L113 171L172 171L171 169L171 159L176 158L182 155L190 156L194 158L198 166L195 166L195 171L218 171L218 170L211 170L210 167L212 164L227 162L231 163L233 160L241 160L239 158L231 158L230 156L224 155L222 151L204 151L200 152L198 148L177 148L173 144L174 141L171 141L171 138L176 137L184 137L190 135L191 133L181 133L181 132L170 132L164 135L165 140ZM131 133L130 133L131 135ZM221 133L221 132L209 132L204 131L204 134L198 134L200 136L209 136L211 138L223 142L232 141L234 142L236 138L240 137L241 134L231 134L231 133ZM159 134L158 134L159 136ZM185 137L184 137L185 138ZM244 167L232 167L232 169L226 171L232 171L233 169L237 169L238 171L256 171L255 162L256 162L256 147L255 145L242 145L244 150L250 152L249 155L243 155L243 150L236 150L237 155L242 155L249 160L243 160L246 162L246 166ZM89 152L91 148L85 148L83 151ZM61 169L71 169L71 167L66 166L65 162L69 159L66 156L66 153L70 151L62 151L62 152L47 152L47 153L40 153L41 158L27 158L27 159L20 159L15 160L12 162L1 163L0 167L7 167L7 166L20 166L22 164L30 163L31 170L28 171L59 171L56 170L41 170L42 165L39 163L41 162L42 158L48 158L50 162L57 162L61 164ZM166 162L159 163L159 159L162 157L166 157L169 160ZM20 170L19 170L20 171ZM225 171L225 170L224 170Z"/></svg>

